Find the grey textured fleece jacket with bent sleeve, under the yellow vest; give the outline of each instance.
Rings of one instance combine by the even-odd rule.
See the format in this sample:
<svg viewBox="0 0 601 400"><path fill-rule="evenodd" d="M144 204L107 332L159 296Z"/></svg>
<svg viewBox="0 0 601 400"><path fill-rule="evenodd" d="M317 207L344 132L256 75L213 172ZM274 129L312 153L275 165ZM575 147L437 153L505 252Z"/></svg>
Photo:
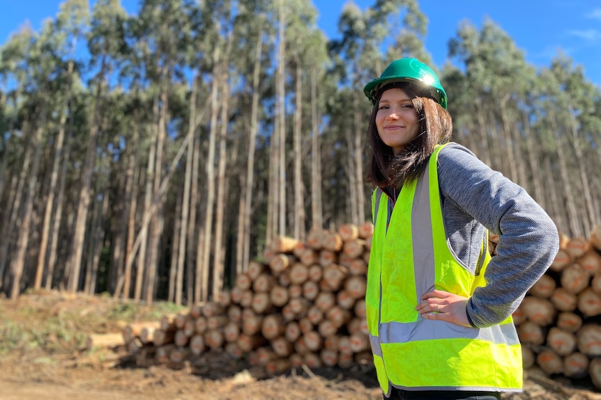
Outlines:
<svg viewBox="0 0 601 400"><path fill-rule="evenodd" d="M443 147L438 171L447 242L457 259L474 272L485 229L499 235L486 287L476 289L466 306L473 326L495 325L551 265L559 249L557 228L521 186L462 145Z"/></svg>

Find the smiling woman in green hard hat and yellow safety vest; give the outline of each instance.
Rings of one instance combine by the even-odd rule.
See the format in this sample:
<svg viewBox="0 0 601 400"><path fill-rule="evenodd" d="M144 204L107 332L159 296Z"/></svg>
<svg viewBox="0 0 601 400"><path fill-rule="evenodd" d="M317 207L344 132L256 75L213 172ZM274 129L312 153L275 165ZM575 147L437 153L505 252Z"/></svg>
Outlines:
<svg viewBox="0 0 601 400"><path fill-rule="evenodd" d="M551 218L466 147L439 78L415 58L365 86L374 237L367 325L385 398L500 399L522 390L511 314L559 246ZM496 257L488 232L499 235Z"/></svg>

